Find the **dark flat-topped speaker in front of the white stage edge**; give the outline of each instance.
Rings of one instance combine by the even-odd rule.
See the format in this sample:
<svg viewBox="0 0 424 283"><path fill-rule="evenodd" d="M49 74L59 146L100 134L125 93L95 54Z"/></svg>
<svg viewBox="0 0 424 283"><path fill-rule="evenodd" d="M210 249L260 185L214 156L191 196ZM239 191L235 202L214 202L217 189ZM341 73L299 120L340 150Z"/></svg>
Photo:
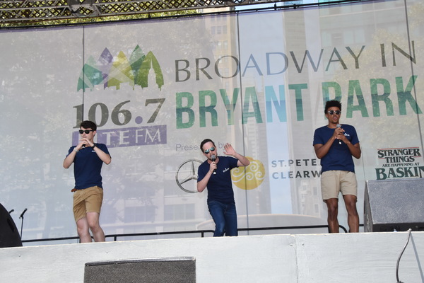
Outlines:
<svg viewBox="0 0 424 283"><path fill-rule="evenodd" d="M86 263L84 283L122 282L195 283L196 260L182 257Z"/></svg>

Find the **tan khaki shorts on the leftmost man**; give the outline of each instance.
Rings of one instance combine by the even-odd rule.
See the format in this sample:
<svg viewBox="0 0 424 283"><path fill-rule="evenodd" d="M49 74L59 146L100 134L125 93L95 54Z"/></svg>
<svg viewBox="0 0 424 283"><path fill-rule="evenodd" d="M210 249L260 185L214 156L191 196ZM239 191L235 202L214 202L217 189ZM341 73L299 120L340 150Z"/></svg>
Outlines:
<svg viewBox="0 0 424 283"><path fill-rule="evenodd" d="M98 186L76 190L73 193L73 217L75 221L86 217L87 212L98 212L103 202L103 189Z"/></svg>

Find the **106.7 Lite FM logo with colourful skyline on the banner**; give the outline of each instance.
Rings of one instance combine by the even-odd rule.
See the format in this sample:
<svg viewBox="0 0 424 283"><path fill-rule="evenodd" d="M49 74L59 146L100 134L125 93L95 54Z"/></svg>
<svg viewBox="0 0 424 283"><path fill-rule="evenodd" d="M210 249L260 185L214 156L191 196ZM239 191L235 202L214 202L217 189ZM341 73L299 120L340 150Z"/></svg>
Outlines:
<svg viewBox="0 0 424 283"><path fill-rule="evenodd" d="M155 76L155 83L161 89L164 84L163 72L153 52L149 51L147 54L144 54L143 50L137 45L129 58L122 51L114 58L110 51L105 48L97 61L93 56L90 56L86 64L84 64L78 79L77 91L85 91L86 88L93 90L95 86L103 86L103 88L115 87L119 90L121 83L128 83L133 88L135 86L146 88L148 87L149 75L152 73L152 70ZM146 99L146 107L153 105L154 109L154 105L156 105L155 110L148 118L147 124L155 122L164 102L165 98ZM130 103L130 100L116 105L110 115L110 110L105 103L95 103L88 110L88 120L95 122L99 128L105 125L109 119L112 120L114 125L124 126L132 118L131 112L125 109L126 103ZM77 117L74 128L79 128L83 120L83 107L83 104L73 107L76 108ZM95 119L96 112L99 109L101 112L100 122ZM137 116L134 121L136 124L141 124L143 117ZM72 139L73 143L78 143L78 132L73 133ZM98 129L97 140L110 147L166 144L166 125Z"/></svg>

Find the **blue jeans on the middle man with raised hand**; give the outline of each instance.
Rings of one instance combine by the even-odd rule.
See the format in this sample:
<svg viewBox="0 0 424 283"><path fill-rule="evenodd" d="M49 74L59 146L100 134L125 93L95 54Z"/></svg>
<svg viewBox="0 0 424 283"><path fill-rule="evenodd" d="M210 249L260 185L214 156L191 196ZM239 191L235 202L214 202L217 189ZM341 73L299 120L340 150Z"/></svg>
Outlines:
<svg viewBox="0 0 424 283"><path fill-rule="evenodd" d="M214 237L237 236L237 212L235 204L223 204L216 200L208 202L209 213L215 222Z"/></svg>

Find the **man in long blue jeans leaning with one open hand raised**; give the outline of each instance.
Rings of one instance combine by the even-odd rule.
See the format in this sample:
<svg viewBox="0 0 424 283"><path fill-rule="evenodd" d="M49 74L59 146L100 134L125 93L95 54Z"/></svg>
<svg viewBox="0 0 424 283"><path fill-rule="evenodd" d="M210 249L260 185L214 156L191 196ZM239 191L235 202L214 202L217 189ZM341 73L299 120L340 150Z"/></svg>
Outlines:
<svg viewBox="0 0 424 283"><path fill-rule="evenodd" d="M231 169L248 166L249 159L237 154L231 144L225 144L224 154L217 156L215 143L205 139L200 144L201 152L208 158L197 171L197 191L208 187L208 209L215 222L213 236L237 236L237 212L232 190Z"/></svg>

